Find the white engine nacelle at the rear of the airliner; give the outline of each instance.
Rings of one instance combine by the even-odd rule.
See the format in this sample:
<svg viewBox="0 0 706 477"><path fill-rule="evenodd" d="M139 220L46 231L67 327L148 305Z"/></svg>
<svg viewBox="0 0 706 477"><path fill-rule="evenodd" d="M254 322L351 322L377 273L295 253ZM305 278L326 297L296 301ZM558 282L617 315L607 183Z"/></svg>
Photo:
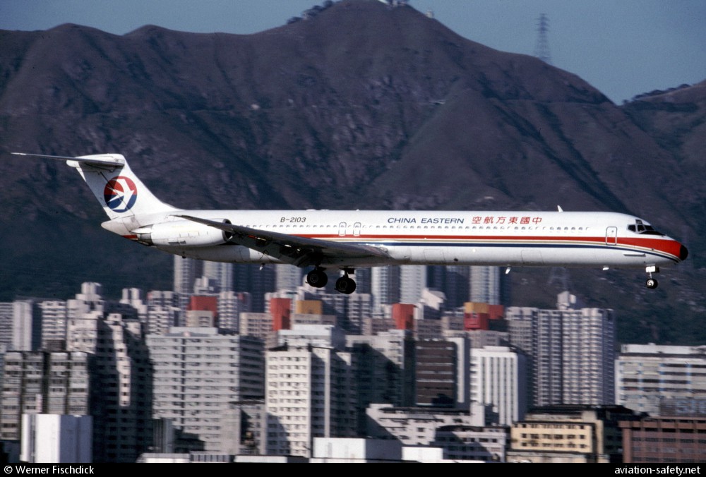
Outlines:
<svg viewBox="0 0 706 477"><path fill-rule="evenodd" d="M218 220L218 219L216 219ZM221 222L229 224L230 221L222 219ZM216 229L191 220L175 220L174 222L162 222L148 227L140 227L133 231L137 235L138 242L145 245L156 246L187 246L187 247L208 247L222 245L232 236L226 231Z"/></svg>

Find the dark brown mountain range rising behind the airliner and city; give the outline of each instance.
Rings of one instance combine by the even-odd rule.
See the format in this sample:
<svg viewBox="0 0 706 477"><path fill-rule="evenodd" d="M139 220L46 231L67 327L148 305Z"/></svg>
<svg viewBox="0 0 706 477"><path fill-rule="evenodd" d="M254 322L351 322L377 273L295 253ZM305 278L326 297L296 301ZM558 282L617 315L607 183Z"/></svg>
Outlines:
<svg viewBox="0 0 706 477"><path fill-rule="evenodd" d="M571 270L572 291L633 342L705 338L703 83L618 107L410 6L310 12L255 35L1 31L0 152L121 152L181 207L630 212L688 262L656 291L639 271ZM0 191L0 299L171 288L172 259L100 229L73 169L3 154ZM513 271L513 304L553 306L554 276Z"/></svg>

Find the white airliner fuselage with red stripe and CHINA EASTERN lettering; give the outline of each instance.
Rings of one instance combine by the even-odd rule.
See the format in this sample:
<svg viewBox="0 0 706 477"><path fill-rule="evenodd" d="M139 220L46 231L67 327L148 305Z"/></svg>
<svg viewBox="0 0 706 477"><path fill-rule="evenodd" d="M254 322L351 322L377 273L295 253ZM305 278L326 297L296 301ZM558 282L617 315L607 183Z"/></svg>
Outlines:
<svg viewBox="0 0 706 477"><path fill-rule="evenodd" d="M640 234L634 231L635 223L647 222L614 212L180 210L177 214L182 212L262 231L374 246L390 256L329 264L336 267L645 267L673 265L686 258L681 243L657 232ZM174 240L155 243L166 252L221 262L279 262L244 246L203 245L199 234L213 234L214 229L176 219L174 213L143 217L140 222L162 220L174 222Z"/></svg>

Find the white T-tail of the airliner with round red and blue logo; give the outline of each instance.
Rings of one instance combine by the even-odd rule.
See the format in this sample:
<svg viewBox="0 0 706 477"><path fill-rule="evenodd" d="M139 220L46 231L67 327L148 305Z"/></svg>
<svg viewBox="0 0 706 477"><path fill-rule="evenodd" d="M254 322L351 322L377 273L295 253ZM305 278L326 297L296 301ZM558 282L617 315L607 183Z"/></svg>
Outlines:
<svg viewBox="0 0 706 477"><path fill-rule="evenodd" d="M13 152L15 155L61 159L78 170L105 213L113 219L177 210L157 199L138 179L121 154L80 157L50 156Z"/></svg>

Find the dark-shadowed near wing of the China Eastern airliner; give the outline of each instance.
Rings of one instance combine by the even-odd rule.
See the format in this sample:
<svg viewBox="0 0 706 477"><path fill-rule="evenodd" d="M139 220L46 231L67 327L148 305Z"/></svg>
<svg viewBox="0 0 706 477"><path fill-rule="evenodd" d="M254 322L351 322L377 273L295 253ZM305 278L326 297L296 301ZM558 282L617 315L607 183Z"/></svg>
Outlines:
<svg viewBox="0 0 706 477"><path fill-rule="evenodd" d="M338 243L335 241L308 239L289 234L280 234L269 230L251 229L241 225L201 219L191 215L176 215L199 224L209 225L232 234L229 241L257 250L260 253L277 258L297 267L310 265L346 265L352 259L390 258L388 253L377 247Z"/></svg>

